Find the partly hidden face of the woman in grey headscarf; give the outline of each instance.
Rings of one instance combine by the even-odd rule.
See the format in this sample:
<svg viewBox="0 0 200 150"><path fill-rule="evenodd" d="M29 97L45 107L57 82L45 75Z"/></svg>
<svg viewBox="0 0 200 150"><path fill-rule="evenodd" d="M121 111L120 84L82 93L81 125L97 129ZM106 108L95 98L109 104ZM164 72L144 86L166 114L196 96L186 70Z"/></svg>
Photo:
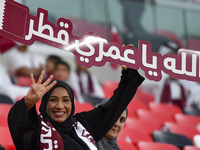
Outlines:
<svg viewBox="0 0 200 150"><path fill-rule="evenodd" d="M118 134L121 132L121 130L123 129L125 122L126 122L126 110L124 110L124 112L121 114L117 122L106 134L106 137L109 139L115 139L118 136Z"/></svg>

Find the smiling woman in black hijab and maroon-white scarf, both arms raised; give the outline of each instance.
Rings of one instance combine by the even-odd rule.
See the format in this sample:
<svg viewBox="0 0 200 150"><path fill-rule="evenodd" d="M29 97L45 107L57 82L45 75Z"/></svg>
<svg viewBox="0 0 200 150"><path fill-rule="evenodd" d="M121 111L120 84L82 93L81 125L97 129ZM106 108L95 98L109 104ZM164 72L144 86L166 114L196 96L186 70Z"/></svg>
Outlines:
<svg viewBox="0 0 200 150"><path fill-rule="evenodd" d="M44 71L28 94L15 103L8 115L12 139L19 150L95 150L96 142L111 129L133 98L144 78L122 66L122 77L109 102L74 115L74 95L63 81L43 84ZM35 104L42 98L38 116Z"/></svg>

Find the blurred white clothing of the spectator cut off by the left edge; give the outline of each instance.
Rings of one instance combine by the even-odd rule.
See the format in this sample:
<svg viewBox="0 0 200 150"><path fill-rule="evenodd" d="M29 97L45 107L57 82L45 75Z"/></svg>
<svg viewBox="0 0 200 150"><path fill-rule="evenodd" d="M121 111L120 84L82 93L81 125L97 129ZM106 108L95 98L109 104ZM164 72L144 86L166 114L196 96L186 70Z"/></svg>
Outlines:
<svg viewBox="0 0 200 150"><path fill-rule="evenodd" d="M28 90L29 87L14 85L6 71L6 68L0 62L0 94L8 96L12 102L15 103L17 97L25 96Z"/></svg>

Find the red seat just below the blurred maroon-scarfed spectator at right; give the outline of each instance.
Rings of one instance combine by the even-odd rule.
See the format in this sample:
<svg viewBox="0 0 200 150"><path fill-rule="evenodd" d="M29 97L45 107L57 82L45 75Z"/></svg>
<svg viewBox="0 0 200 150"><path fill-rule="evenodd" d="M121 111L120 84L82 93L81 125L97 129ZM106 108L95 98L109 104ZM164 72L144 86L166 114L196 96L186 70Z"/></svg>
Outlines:
<svg viewBox="0 0 200 150"><path fill-rule="evenodd" d="M161 112L173 117L177 113L183 113L183 111L176 105L169 105L167 103L150 102L149 108L151 111Z"/></svg>

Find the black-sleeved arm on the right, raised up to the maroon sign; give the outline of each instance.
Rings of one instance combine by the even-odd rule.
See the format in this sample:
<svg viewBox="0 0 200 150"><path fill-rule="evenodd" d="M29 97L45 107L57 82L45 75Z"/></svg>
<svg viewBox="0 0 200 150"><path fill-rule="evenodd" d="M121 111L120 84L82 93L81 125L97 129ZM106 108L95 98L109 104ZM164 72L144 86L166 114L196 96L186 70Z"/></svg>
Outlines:
<svg viewBox="0 0 200 150"><path fill-rule="evenodd" d="M122 112L135 95L137 88L143 82L144 78L140 76L137 70L126 69L123 66L121 81L118 88L114 91L109 102L100 105L92 111L83 114L77 114L81 123L84 124L84 118L87 118L91 132L96 142L99 141L115 124ZM84 116L85 115L85 116ZM84 124L87 126L86 124ZM88 128L90 128L88 127Z"/></svg>

